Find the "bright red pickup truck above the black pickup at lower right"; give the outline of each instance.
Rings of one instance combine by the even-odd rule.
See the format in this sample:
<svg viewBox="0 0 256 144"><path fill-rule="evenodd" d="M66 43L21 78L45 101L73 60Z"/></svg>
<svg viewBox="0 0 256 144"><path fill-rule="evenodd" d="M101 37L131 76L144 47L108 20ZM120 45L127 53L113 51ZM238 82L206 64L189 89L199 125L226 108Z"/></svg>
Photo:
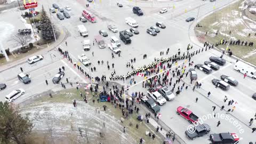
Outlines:
<svg viewBox="0 0 256 144"><path fill-rule="evenodd" d="M178 115L181 115L182 117L186 118L188 120L189 123L194 123L198 120L198 117L196 115L194 115L192 113L192 111L190 111L187 108L181 107L179 106L177 108L177 112Z"/></svg>

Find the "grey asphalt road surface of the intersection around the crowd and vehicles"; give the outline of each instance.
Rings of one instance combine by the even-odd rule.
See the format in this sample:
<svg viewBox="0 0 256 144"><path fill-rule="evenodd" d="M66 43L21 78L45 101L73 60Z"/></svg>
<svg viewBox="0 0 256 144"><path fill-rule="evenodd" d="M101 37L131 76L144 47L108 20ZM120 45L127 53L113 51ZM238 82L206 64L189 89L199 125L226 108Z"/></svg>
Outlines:
<svg viewBox="0 0 256 144"><path fill-rule="evenodd" d="M110 73L115 69L117 75L125 75L127 71L131 71L131 68L126 68L126 62L129 62L130 59L134 57L137 59L137 62L132 65L134 68L141 67L143 65L147 65L154 61L154 58L159 58L159 53L161 51L166 51L167 47L170 47L170 55L177 53L178 49L181 50L181 53L185 52L187 49L187 45L190 42L188 29L191 22L186 22L185 19L188 17L198 18L203 15L211 12L213 7L218 9L224 5L229 4L231 1L217 1L215 3L209 1L179 1L172 3L154 3L153 7L150 3L139 3L137 5L141 7L142 11L145 15L139 17L132 13L132 6L135 5L135 2L130 1L118 1L123 3L123 7L120 8L116 5L115 1L102 1L99 3L97 0L95 4L90 4L88 8L86 8L86 1L77 0L77 1L42 1L39 4L45 6L46 9L51 7L52 3L57 3L61 7L65 7L66 5L71 6L71 11L69 11L71 18L65 20L58 20L55 14L51 16L52 21L55 25L62 25L69 32L69 37L67 38L67 46L65 43L61 44L60 47L63 50L68 50L69 54L73 61L77 59L77 55L81 55L85 53L87 57L90 58L92 62L92 67L96 67L97 71L94 71L92 76L101 76L106 75L109 77ZM215 5L215 6L214 6ZM164 14L160 14L159 10L162 7L169 7L169 11ZM175 7L175 9L173 9ZM199 8L200 7L200 8ZM96 23L82 23L79 21L79 17L81 17L81 13L83 9L87 9L91 11L97 17ZM129 45L125 45L121 42L121 57L115 55L115 59L111 59L111 51L109 49L99 49L97 44L93 46L92 41L95 35L98 35L98 31L100 29L104 29L108 32L108 37L104 38L106 43L110 43L110 36L116 36L119 38L119 33L112 33L107 29L107 25L116 25L118 30L124 30L131 28L126 25L124 19L126 17L132 17L139 23L138 30L140 31L139 35L134 35L131 37L132 43ZM146 33L146 29L150 26L154 26L157 21L162 21L166 25L166 29L160 29L161 32L157 34L157 36L153 37ZM89 37L83 38L79 35L77 25L85 25L85 27L89 30ZM91 40L91 50L84 52L82 50L82 42L84 39ZM198 47L194 46L193 51L197 50ZM92 55L94 52L94 57ZM62 89L60 85L54 85L51 83L51 78L58 72L59 67L65 66L67 69L65 70L65 77L63 77L62 81L66 82L66 77L71 79L71 81L76 82L87 82L87 79L77 71L74 70L70 63L68 63L65 59L61 59L61 56L58 52L53 51L56 55L53 60L51 60L51 54L48 53L44 55L45 59L41 62L30 66L28 63L23 63L21 66L14 67L12 69L6 70L1 73L4 77L1 78L1 82L5 82L7 84L7 89L1 91L1 95L6 95L11 90L19 89L20 87L26 90L25 95L17 99L15 102L19 102L22 100L26 100L27 98L33 96L34 94L38 94L44 92L46 90L59 90ZM147 59L142 59L143 54L147 54ZM210 50L199 55L196 55L192 60L197 63L203 63L205 60L209 60L211 55L220 55L218 51ZM164 55L163 57L167 57ZM183 92L175 98L174 101L167 102L166 105L161 107L161 120L167 124L171 129L180 135L180 137L185 140L187 143L209 143L209 134L208 136L204 136L201 138L197 138L194 141L188 140L185 137L185 130L187 130L187 126L189 123L183 119L181 116L178 116L175 112L178 106L188 107L192 110L198 117L203 117L204 115L212 113L212 106L217 106L216 111L218 113L224 113L225 111L220 111L219 106L225 105L225 110L228 109L227 103L223 103L223 98L227 95L228 100L234 99L238 103L236 104L236 109L231 114L232 118L236 119L239 124L241 124L241 129L243 129L244 133L239 133L237 127L235 127L229 121L225 119L220 119L221 125L219 127L215 127L217 125L218 119L209 118L205 121L205 123L211 126L210 133L220 133L220 132L235 132L238 134L240 138L243 140L239 141L239 143L249 143L249 141L253 140L253 135L251 133L251 128L248 126L249 119L252 118L255 114L255 101L251 99L252 93L255 92L254 85L255 81L250 78L243 79L243 75L237 73L234 69L234 59L225 57L229 62L220 70L214 71L214 73L210 75L206 75L202 73L202 71L197 70L198 73L198 81L202 82L202 88L197 89L195 92L191 91L193 84L189 86L189 89L183 90ZM97 61L103 60L104 64L98 66ZM111 68L111 70L107 70L106 62L109 61L111 63L115 63L115 68ZM231 62L231 63L230 63ZM32 82L28 84L29 86L22 84L18 81L17 74L19 73L19 67L23 67L25 69L25 73L29 71L32 76ZM69 68L68 68L69 67ZM86 69L86 68L84 68ZM90 67L87 69L89 72ZM18 71L18 72L17 72ZM220 78L220 75L226 74L232 76L237 79L239 85L236 87L230 86L230 90L222 91L220 89L215 89L214 85L211 83L211 79ZM35 80L34 80L35 79ZM50 85L45 85L45 79L49 79ZM142 81L142 78L135 77L137 82ZM174 82L175 79L173 79ZM189 78L185 78L184 81L189 84ZM120 83L122 83L120 81ZM126 82L129 84L129 81ZM180 83L179 85L182 85ZM178 85L177 85L178 86ZM42 89L43 88L43 89ZM171 87L169 87L171 89ZM177 88L175 88L175 91ZM130 89L129 94L135 91L146 92L146 89L142 89L141 85L134 86ZM211 92L211 96L209 98L205 97L207 92ZM195 98L199 98L198 102L195 103ZM4 100L4 97L1 96L0 100ZM235 105L235 104L233 104ZM231 106L230 106L231 108ZM255 124L252 125L255 127Z"/></svg>

